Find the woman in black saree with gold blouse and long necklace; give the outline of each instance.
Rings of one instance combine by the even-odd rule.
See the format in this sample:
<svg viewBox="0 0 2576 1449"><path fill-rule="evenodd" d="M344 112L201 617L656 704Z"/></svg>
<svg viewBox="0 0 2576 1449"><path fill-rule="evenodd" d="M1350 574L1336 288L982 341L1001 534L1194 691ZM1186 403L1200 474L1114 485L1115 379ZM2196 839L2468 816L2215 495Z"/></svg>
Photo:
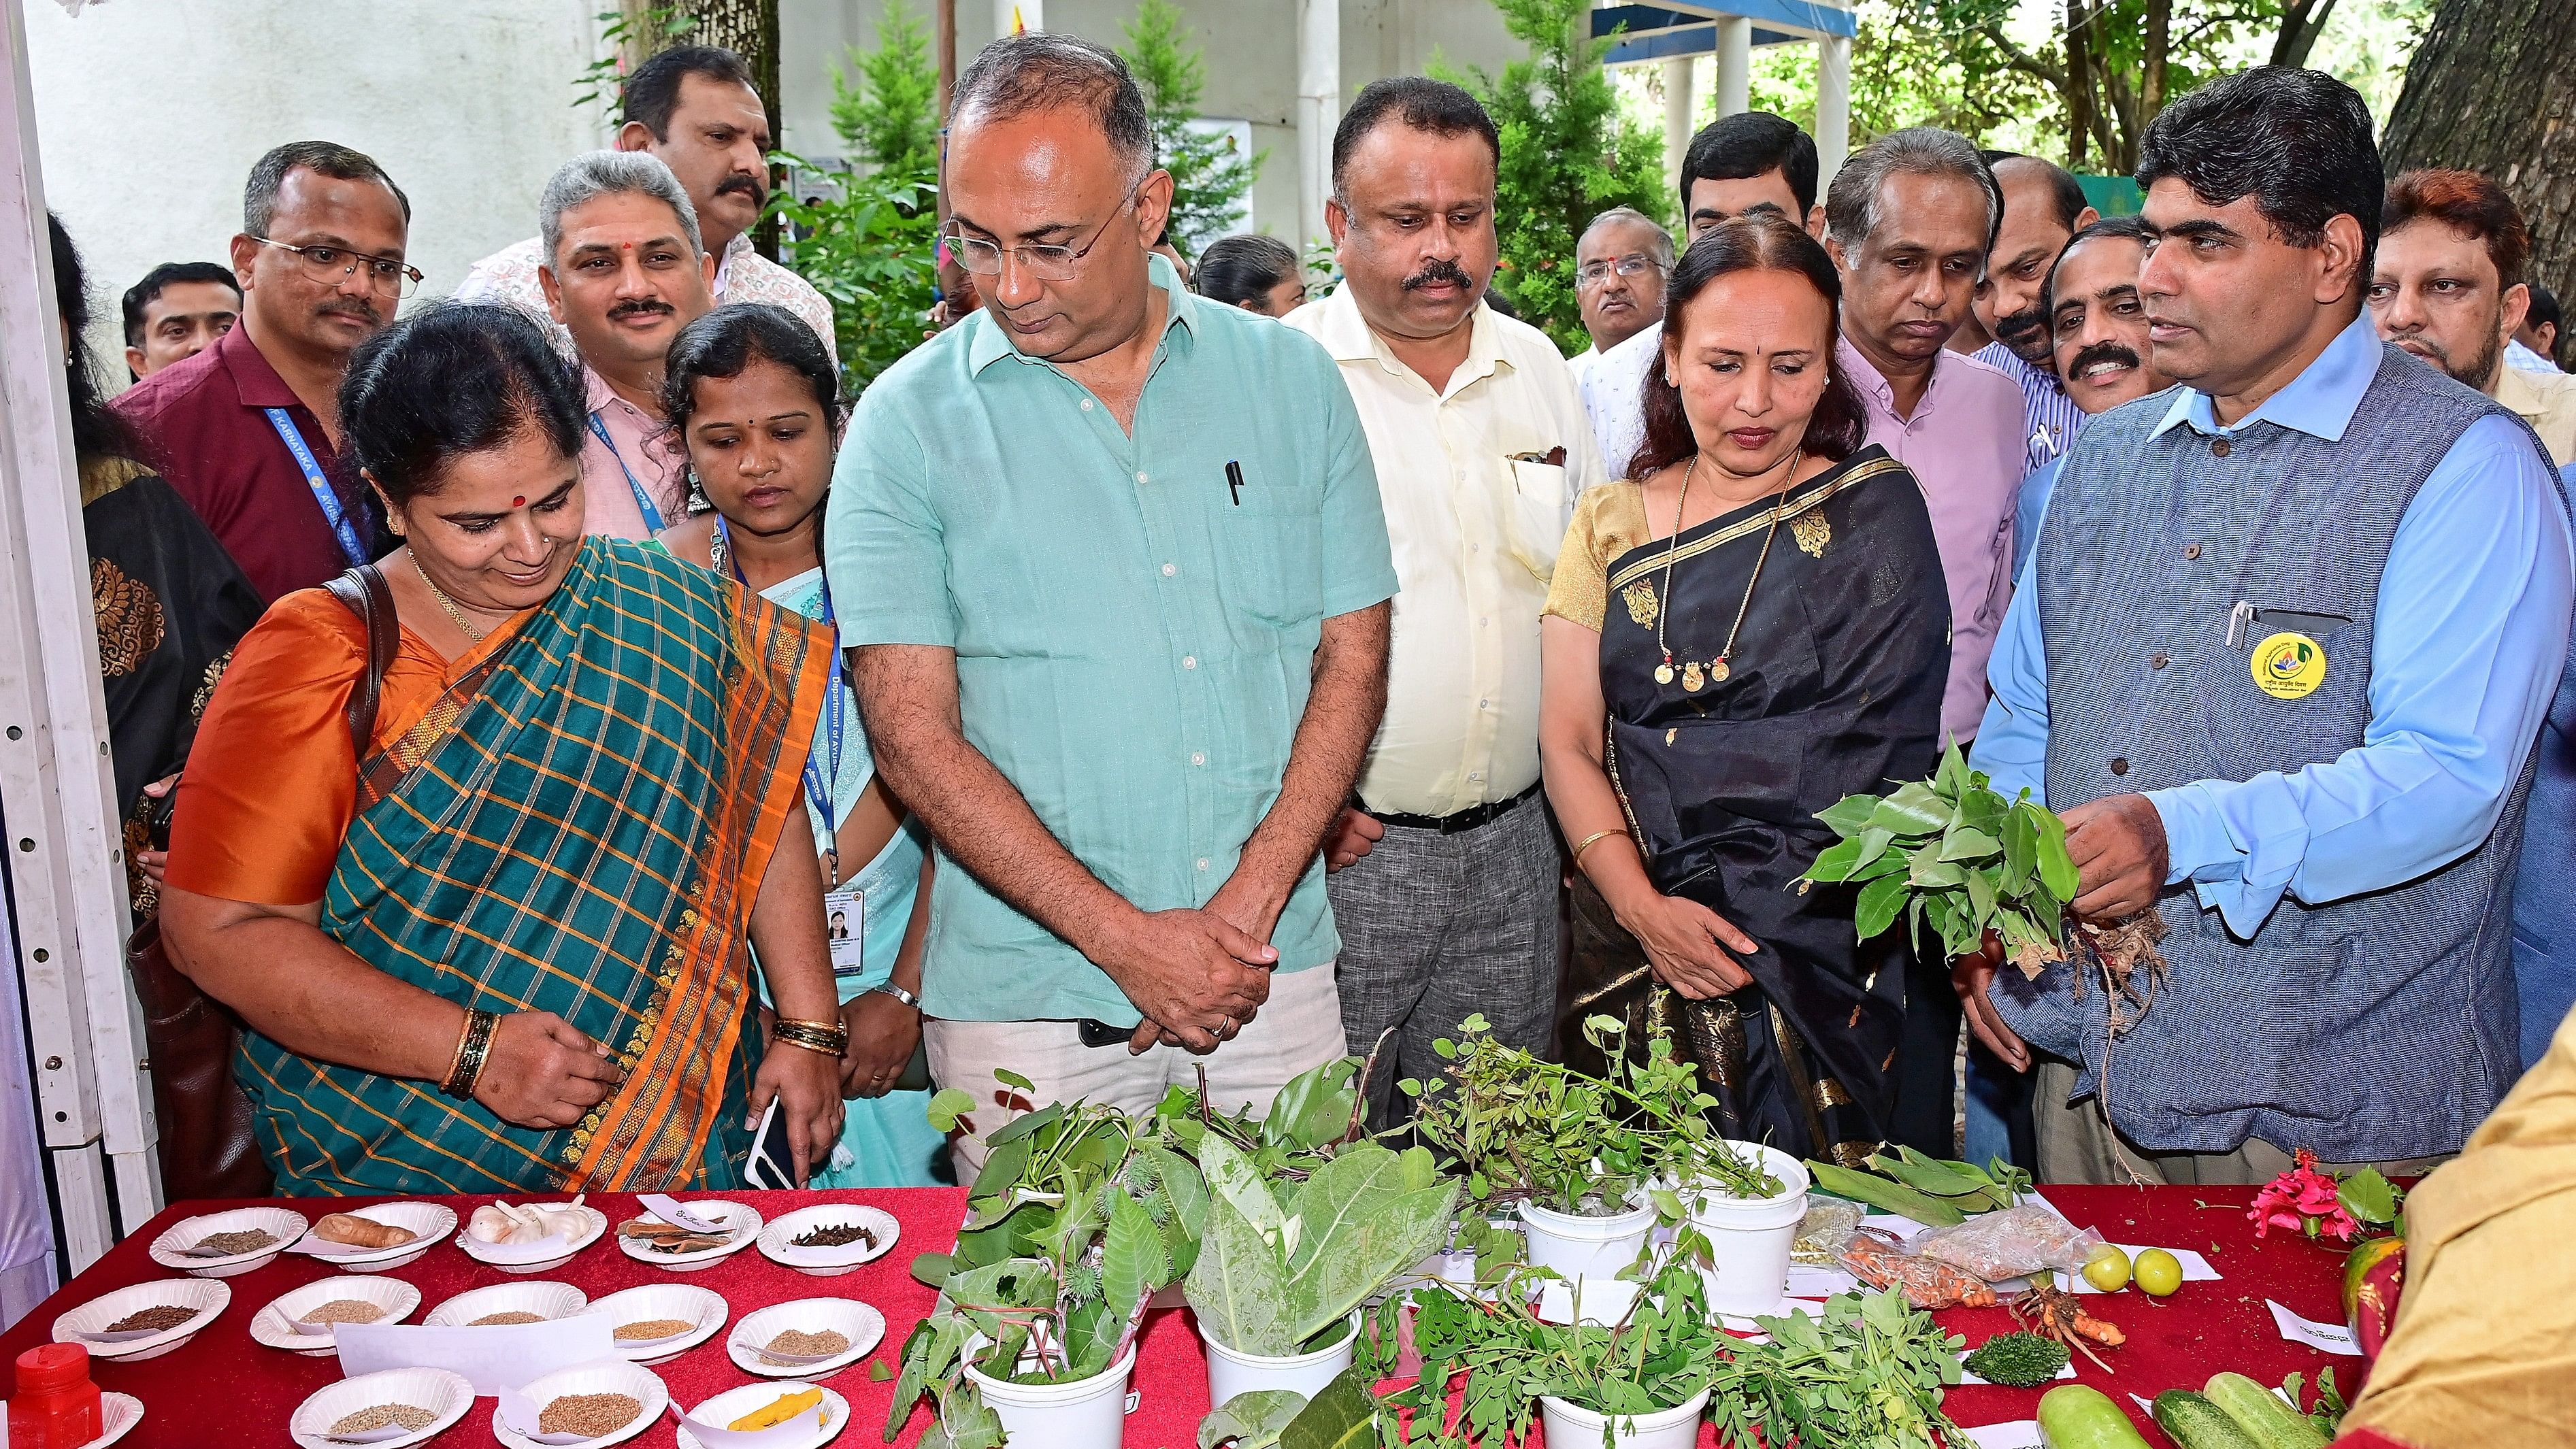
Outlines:
<svg viewBox="0 0 2576 1449"><path fill-rule="evenodd" d="M1914 476L1862 448L1834 263L1780 216L1690 245L1628 479L1587 492L1540 620L1540 757L1574 844L1584 1017L1667 1027L1728 1138L1857 1161L1886 1135L1899 934L1798 888L1816 811L1929 775L1950 602Z"/></svg>

